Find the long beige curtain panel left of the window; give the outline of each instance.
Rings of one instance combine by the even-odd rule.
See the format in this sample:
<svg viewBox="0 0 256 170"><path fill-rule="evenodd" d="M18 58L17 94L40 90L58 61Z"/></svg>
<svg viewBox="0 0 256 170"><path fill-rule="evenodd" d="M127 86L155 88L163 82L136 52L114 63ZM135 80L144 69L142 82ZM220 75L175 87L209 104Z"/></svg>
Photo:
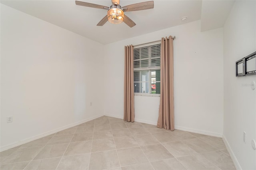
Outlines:
<svg viewBox="0 0 256 170"><path fill-rule="evenodd" d="M125 46L124 54L124 120L134 122L133 46Z"/></svg>

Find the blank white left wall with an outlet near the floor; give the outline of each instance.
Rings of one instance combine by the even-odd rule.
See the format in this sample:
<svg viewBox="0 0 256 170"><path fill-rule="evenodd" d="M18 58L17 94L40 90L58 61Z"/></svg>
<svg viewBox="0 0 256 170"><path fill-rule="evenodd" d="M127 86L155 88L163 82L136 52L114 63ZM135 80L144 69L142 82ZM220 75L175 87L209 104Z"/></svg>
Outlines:
<svg viewBox="0 0 256 170"><path fill-rule="evenodd" d="M1 4L1 150L103 114L102 48Z"/></svg>

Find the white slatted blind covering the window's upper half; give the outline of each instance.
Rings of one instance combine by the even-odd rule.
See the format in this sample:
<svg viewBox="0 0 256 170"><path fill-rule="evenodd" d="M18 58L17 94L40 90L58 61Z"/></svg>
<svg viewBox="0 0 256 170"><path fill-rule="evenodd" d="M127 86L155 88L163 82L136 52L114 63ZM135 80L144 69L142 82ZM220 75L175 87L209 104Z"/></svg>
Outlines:
<svg viewBox="0 0 256 170"><path fill-rule="evenodd" d="M161 44L134 48L134 70L160 68Z"/></svg>

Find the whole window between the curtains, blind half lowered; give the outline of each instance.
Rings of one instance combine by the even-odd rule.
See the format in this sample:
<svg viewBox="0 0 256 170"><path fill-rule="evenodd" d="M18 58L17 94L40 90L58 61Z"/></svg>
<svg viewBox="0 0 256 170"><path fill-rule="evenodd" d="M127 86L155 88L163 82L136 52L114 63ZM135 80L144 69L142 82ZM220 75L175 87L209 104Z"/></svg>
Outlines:
<svg viewBox="0 0 256 170"><path fill-rule="evenodd" d="M160 94L161 44L134 49L134 93Z"/></svg>

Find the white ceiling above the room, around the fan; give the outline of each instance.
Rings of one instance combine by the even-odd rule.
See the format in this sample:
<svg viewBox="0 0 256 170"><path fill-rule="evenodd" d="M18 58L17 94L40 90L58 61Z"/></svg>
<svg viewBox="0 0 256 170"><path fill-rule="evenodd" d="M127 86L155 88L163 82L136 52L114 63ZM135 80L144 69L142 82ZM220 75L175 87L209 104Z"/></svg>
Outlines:
<svg viewBox="0 0 256 170"><path fill-rule="evenodd" d="M112 4L111 0L80 1L104 6ZM120 0L120 5L126 6L145 1L148 0ZM233 0L231 1L233 2ZM216 0L212 1L213 4L214 2L219 3ZM204 8L202 8L202 0L154 0L154 9L125 12L137 24L130 28L124 22L121 24L106 22L104 26L96 26L106 16L107 10L77 6L75 0L1 0L1 3L102 44L200 20L201 18L207 18L207 15L212 17L211 20L217 19L216 21L218 21L219 16L214 18L214 13L220 13L220 10L228 10L228 12L221 13L224 20L226 20L231 9L231 5L226 5L221 9L217 8L216 11L210 10L210 5L204 5ZM216 7L220 5L218 3L216 3ZM201 11L206 17L201 16ZM211 14L208 14L207 11L210 11ZM187 16L188 20L182 22L180 18L183 16ZM216 25L218 28L223 24L222 20L214 24L210 22L210 24L206 23L204 28L206 27L205 30L207 30L215 28Z"/></svg>

